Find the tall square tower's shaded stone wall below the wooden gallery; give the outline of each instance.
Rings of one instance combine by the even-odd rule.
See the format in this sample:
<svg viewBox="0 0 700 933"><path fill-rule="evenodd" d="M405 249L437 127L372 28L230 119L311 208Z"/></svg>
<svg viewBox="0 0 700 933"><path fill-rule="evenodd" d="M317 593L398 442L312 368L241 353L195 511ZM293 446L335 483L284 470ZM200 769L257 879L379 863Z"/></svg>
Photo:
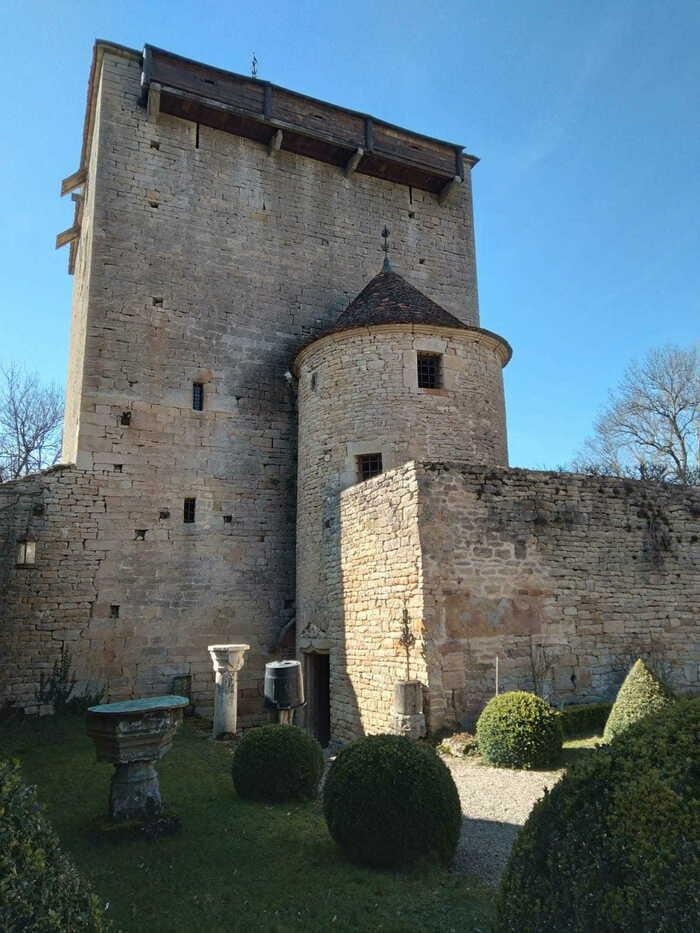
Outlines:
<svg viewBox="0 0 700 933"><path fill-rule="evenodd" d="M250 643L240 710L253 722L266 715L264 663L295 611L297 425L284 374L378 271L385 223L397 269L478 322L469 178L440 205L193 122L152 122L139 56L105 46L98 62L64 444L78 469L61 474L90 490L97 538L83 545L83 505L76 517L54 499L51 477L18 487L22 502L43 490L56 526L39 529L36 570L14 566L14 545L6 555L0 631L13 633L14 653L3 683L31 705L37 672L64 640L49 617L75 612L66 628L90 646L76 652L78 674L115 699L170 690L191 672L206 711L207 644ZM3 496L14 503L17 493ZM192 524L185 498L196 498ZM58 605L56 548L75 558L79 609Z"/></svg>

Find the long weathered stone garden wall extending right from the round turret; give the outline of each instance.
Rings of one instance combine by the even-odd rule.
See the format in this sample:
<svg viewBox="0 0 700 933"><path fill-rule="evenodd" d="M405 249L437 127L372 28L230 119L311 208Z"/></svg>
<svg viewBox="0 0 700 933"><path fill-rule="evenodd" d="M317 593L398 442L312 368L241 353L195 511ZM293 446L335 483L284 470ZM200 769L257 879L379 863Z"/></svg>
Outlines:
<svg viewBox="0 0 700 933"><path fill-rule="evenodd" d="M700 490L463 463L407 465L380 485L383 520L370 484L343 494L340 547L377 536L363 547L380 551L382 522L417 486L418 542L397 535L393 559L420 568L404 579L422 602L430 728L471 722L495 691L496 656L502 691L557 704L612 699L639 656L678 692L700 688ZM361 565L343 554L341 566L339 612L361 637L386 610Z"/></svg>

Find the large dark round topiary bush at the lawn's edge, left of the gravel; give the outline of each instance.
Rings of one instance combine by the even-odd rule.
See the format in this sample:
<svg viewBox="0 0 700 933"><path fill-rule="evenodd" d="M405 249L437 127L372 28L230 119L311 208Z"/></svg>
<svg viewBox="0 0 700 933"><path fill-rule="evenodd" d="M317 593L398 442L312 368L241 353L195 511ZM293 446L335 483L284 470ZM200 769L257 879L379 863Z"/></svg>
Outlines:
<svg viewBox="0 0 700 933"><path fill-rule="evenodd" d="M323 812L346 854L378 867L421 857L447 863L462 825L445 763L399 735L368 736L340 751L326 778Z"/></svg>

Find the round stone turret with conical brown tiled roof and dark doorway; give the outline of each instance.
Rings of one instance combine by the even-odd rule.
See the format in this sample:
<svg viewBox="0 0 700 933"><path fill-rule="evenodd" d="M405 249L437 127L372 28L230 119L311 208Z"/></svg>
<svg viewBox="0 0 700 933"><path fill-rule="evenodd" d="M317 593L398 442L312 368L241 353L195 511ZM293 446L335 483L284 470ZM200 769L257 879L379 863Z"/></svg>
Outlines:
<svg viewBox="0 0 700 933"><path fill-rule="evenodd" d="M342 607L335 619L331 608L342 491L413 460L507 466L502 368L511 350L465 316L470 323L385 261L296 357L297 646L306 656L310 725L321 738L328 727L319 718L330 714L337 733L347 697L344 618ZM327 688L318 683L325 678Z"/></svg>

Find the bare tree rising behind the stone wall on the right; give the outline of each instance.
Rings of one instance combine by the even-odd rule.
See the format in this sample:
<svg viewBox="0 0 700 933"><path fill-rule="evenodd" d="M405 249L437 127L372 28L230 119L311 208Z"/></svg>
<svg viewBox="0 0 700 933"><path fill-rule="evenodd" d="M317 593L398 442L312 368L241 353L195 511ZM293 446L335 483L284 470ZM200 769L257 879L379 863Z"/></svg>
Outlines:
<svg viewBox="0 0 700 933"><path fill-rule="evenodd" d="M652 350L610 393L572 467L582 473L700 482L700 355Z"/></svg>

